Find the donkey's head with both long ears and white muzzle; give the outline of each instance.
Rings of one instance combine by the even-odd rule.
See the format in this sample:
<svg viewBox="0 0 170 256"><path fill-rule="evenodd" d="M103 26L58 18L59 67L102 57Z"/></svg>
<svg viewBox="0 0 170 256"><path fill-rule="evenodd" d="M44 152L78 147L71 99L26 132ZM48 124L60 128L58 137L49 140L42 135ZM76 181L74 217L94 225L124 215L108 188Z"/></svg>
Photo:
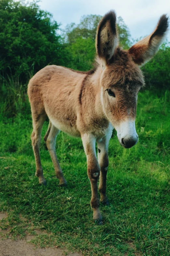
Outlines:
<svg viewBox="0 0 170 256"><path fill-rule="evenodd" d="M117 130L120 144L130 148L138 141L135 129L137 94L144 86L139 65L158 50L168 28L162 15L156 29L129 50L119 47L116 14L108 12L100 21L96 34L96 51L102 66L101 101L107 119Z"/></svg>

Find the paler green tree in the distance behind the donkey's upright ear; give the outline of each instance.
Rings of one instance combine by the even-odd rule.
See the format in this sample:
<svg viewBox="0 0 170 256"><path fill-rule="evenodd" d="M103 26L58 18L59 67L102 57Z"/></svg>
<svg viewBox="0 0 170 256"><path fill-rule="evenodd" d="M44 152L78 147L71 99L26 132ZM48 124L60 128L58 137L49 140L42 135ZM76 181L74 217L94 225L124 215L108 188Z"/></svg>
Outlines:
<svg viewBox="0 0 170 256"><path fill-rule="evenodd" d="M82 16L80 23L71 23L65 29L65 42L69 52L68 66L87 71L92 68L95 50L95 37L101 15ZM127 49L130 47L130 33L121 17L118 18L118 31L120 33L120 46Z"/></svg>

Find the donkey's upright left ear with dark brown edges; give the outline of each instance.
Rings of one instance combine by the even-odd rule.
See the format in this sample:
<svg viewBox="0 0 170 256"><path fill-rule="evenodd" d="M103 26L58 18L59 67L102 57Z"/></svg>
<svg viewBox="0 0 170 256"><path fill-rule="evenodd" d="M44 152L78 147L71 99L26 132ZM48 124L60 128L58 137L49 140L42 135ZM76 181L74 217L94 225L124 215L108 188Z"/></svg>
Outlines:
<svg viewBox="0 0 170 256"><path fill-rule="evenodd" d="M116 14L111 10L100 21L96 33L96 52L98 57L103 60L104 66L109 63L118 43Z"/></svg>

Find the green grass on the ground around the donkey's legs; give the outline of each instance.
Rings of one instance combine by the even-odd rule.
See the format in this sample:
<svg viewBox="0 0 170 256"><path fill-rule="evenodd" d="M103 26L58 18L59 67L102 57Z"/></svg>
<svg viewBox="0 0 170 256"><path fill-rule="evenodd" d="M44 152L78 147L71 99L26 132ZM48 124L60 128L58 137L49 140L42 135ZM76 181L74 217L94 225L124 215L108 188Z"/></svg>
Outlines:
<svg viewBox="0 0 170 256"><path fill-rule="evenodd" d="M41 159L47 186L38 184L31 146L30 115L0 121L0 221L5 237L36 234L32 243L59 246L85 255L169 256L170 92L140 93L136 118L139 142L123 149L116 132L109 144L107 195L100 206L104 223L92 221L91 188L80 139L64 133L56 151L66 188L59 187L44 141ZM44 136L48 122L43 127ZM37 230L43 231L42 233Z"/></svg>

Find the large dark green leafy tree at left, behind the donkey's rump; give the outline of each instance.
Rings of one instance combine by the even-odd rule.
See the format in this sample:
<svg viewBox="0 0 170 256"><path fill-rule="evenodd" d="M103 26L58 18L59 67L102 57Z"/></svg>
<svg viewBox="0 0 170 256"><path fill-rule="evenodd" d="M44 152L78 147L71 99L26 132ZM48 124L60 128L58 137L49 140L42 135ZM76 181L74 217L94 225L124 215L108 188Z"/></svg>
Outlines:
<svg viewBox="0 0 170 256"><path fill-rule="evenodd" d="M0 1L0 73L22 81L47 64L64 63L57 22L36 2Z"/></svg>

